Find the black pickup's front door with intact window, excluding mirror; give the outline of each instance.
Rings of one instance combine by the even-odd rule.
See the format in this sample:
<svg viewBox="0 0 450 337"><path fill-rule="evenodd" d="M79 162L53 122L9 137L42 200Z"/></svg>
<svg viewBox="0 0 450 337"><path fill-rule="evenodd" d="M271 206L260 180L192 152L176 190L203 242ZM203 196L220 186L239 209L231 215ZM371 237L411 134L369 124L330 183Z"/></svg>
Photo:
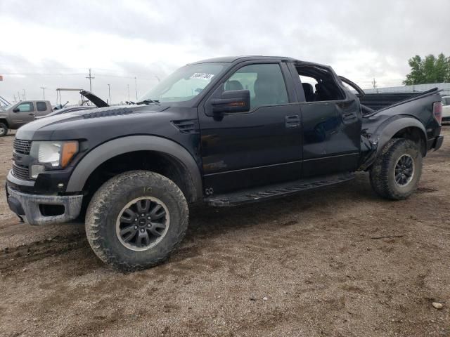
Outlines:
<svg viewBox="0 0 450 337"><path fill-rule="evenodd" d="M288 82L286 81L288 79ZM300 109L287 67L245 62L217 84L199 109L205 189L214 194L300 178ZM211 100L250 91L250 111L214 116Z"/></svg>

